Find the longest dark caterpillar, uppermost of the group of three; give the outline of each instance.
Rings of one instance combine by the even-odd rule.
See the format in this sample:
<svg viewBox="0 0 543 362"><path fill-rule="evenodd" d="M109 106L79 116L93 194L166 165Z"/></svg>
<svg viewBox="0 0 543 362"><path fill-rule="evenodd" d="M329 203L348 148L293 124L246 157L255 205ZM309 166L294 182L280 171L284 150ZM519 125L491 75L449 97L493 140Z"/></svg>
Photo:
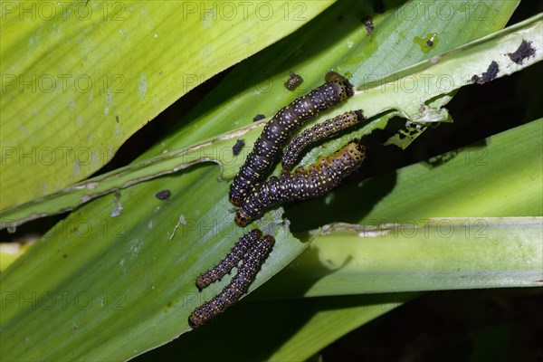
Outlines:
<svg viewBox="0 0 543 362"><path fill-rule="evenodd" d="M353 86L348 80L334 71L327 73L325 81L323 85L283 107L266 124L245 163L233 178L230 186L230 202L233 205L242 205L251 187L270 170L281 147L296 129L308 119L354 94Z"/></svg>

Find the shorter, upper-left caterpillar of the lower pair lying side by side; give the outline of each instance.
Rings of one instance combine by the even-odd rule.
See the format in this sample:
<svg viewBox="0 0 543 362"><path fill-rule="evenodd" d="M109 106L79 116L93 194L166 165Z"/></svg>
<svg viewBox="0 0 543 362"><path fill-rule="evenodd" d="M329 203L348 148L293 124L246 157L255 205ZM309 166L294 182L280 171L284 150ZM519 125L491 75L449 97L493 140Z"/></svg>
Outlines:
<svg viewBox="0 0 543 362"><path fill-rule="evenodd" d="M202 291L205 287L214 281L220 281L227 273L233 270L237 266L238 262L243 259L243 255L256 243L258 239L262 237L262 232L258 229L254 229L249 233L244 234L240 240L238 240L233 248L224 259L219 262L214 268L202 273L198 279L196 279L196 287L199 291Z"/></svg>

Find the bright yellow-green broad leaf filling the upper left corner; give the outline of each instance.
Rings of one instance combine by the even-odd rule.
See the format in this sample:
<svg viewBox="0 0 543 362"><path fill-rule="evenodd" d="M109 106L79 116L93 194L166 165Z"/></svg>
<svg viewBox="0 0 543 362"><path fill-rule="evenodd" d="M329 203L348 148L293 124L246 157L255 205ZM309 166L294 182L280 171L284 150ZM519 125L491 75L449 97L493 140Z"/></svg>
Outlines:
<svg viewBox="0 0 543 362"><path fill-rule="evenodd" d="M188 90L331 4L2 2L0 210L90 176Z"/></svg>

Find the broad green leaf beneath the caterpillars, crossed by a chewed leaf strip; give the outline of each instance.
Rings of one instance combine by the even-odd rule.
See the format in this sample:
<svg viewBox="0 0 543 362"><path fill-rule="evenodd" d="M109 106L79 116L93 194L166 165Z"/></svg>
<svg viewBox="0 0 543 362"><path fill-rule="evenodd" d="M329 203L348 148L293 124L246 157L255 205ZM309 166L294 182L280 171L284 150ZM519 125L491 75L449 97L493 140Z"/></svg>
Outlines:
<svg viewBox="0 0 543 362"><path fill-rule="evenodd" d="M330 68L354 71L368 65L368 59L384 69L375 73L386 75L499 30L518 2L483 4L486 17L478 24L465 12L453 13L443 29L446 36L433 51L423 52L407 40L436 26L420 21L424 12L398 17L400 9L390 4L388 12L374 17L375 32L367 36L360 23L361 16L370 14L367 5L340 2L299 32L242 62L182 119L179 129L138 159L191 147L251 123L257 113L274 113L297 95L278 85L288 71L306 78L308 88L300 92L318 85ZM418 6L409 2L401 9L408 5ZM407 42L405 47L397 46L401 40ZM376 53L394 41L398 43L392 47L397 49L393 56ZM376 47L375 42L381 43ZM233 87L240 79L248 81ZM271 84L269 90L258 88L264 81ZM126 359L187 330L190 311L225 282L200 294L195 277L220 260L243 233L233 225L227 184L217 182L219 175L218 167L201 165L130 186L83 205L53 228L0 277L6 305L0 323L3 358ZM166 202L154 197L162 189L172 191ZM281 225L281 209L255 226L273 233L278 243L253 288L307 246L287 232L288 222ZM24 302L27 296L34 304ZM66 303L61 302L64 298ZM58 302L45 304L51 300ZM87 300L92 303L84 304ZM27 348L29 343L32 348ZM208 343L209 339L203 348Z"/></svg>

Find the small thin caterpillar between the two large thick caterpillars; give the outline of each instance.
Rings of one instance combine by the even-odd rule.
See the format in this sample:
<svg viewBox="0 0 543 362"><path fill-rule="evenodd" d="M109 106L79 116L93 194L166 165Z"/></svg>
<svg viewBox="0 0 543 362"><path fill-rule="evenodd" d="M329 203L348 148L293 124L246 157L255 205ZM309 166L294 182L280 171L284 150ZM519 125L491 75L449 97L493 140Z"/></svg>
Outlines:
<svg viewBox="0 0 543 362"><path fill-rule="evenodd" d="M343 129L348 129L363 119L365 118L361 110L349 111L304 130L285 148L281 160L283 169L290 171L300 157L301 151L310 144L335 136Z"/></svg>

